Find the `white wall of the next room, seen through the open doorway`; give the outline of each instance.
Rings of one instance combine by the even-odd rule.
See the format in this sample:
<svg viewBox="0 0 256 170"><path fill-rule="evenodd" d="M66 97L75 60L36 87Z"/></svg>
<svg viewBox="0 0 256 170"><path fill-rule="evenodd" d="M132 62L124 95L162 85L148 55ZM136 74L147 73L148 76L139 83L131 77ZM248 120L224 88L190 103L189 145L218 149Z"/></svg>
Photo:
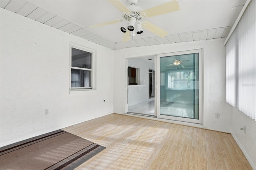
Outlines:
<svg viewBox="0 0 256 170"><path fill-rule="evenodd" d="M148 69L154 69L154 63L142 58L130 58L128 59L128 66L140 69L140 81L138 84L145 85L141 87L129 87L127 92L128 106L148 101Z"/></svg>

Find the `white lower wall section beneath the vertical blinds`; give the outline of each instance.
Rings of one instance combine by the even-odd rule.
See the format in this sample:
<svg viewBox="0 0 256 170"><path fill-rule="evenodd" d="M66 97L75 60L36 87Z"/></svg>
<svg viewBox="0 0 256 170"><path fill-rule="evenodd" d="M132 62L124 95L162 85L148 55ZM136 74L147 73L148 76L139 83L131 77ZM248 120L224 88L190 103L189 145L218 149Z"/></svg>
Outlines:
<svg viewBox="0 0 256 170"><path fill-rule="evenodd" d="M240 130L240 125L246 126L246 133ZM256 170L256 121L232 107L231 133L252 168Z"/></svg>

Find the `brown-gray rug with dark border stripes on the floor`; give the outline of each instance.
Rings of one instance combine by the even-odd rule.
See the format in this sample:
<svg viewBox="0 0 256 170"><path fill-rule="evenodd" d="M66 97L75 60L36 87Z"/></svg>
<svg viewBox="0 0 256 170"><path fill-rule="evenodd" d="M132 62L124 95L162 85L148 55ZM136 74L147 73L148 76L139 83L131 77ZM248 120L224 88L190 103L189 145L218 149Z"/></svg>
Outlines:
<svg viewBox="0 0 256 170"><path fill-rule="evenodd" d="M56 130L0 148L1 170L72 170L105 147Z"/></svg>

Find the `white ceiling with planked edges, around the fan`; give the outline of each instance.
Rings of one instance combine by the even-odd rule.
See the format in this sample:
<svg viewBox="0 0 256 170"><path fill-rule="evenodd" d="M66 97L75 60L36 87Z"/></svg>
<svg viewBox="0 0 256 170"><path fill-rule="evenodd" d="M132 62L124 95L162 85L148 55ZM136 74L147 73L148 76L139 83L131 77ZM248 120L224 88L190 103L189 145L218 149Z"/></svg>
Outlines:
<svg viewBox="0 0 256 170"><path fill-rule="evenodd" d="M148 9L170 0L139 0L138 6ZM143 20L166 30L160 38L144 30L134 42L122 42L123 34L116 23L91 29L101 22L122 19L122 12L107 0L1 0L5 8L30 19L42 22L75 36L98 43L110 49L144 45L200 41L225 38L233 26L246 0L179 0L180 10ZM121 2L128 6L127 0Z"/></svg>

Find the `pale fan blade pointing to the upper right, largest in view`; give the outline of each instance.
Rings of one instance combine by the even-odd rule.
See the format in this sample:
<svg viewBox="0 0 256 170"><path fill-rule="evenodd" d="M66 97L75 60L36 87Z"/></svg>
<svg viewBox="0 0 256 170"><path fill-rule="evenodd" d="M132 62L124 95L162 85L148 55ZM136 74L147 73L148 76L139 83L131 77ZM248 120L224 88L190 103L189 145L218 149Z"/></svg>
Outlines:
<svg viewBox="0 0 256 170"><path fill-rule="evenodd" d="M180 10L180 6L176 0L173 0L161 5L149 8L142 12L144 12L146 16L152 17L152 16L158 16L162 14L167 14L167 13L178 11L178 10Z"/></svg>

